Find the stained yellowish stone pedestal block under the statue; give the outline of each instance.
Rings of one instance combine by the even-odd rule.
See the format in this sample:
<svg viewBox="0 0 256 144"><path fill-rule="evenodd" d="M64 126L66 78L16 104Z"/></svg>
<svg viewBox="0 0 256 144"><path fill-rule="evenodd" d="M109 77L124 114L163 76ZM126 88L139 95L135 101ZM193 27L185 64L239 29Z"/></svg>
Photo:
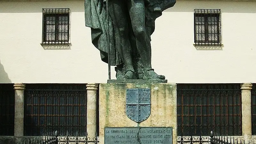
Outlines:
<svg viewBox="0 0 256 144"><path fill-rule="evenodd" d="M140 123L132 121L125 113L126 91L129 88L151 88L151 114ZM105 127L172 127L172 143L176 144L176 84L100 84L100 144L104 144Z"/></svg>

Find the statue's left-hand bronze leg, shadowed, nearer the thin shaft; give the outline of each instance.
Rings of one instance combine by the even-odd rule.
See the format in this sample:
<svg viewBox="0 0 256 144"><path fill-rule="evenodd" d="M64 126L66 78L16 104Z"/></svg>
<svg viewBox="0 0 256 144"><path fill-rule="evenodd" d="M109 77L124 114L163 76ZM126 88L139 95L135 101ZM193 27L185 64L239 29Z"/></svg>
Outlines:
<svg viewBox="0 0 256 144"><path fill-rule="evenodd" d="M120 45L116 47L126 68L124 78L136 79L132 66L132 48L128 37L127 11L124 0L109 0L109 13L119 35L116 41Z"/></svg>

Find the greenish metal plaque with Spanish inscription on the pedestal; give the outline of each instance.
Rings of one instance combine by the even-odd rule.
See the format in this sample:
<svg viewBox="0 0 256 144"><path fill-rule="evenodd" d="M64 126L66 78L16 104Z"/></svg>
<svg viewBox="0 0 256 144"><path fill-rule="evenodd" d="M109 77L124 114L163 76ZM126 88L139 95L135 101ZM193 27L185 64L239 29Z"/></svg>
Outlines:
<svg viewBox="0 0 256 144"><path fill-rule="evenodd" d="M172 144L172 127L106 127L105 144Z"/></svg>

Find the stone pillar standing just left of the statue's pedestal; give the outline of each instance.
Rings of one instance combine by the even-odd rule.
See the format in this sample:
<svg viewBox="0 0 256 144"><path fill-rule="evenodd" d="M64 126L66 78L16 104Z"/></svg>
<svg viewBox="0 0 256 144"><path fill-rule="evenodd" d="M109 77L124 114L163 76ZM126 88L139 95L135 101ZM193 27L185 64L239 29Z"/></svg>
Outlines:
<svg viewBox="0 0 256 144"><path fill-rule="evenodd" d="M87 90L87 137L95 138L97 136L97 126L96 126L96 97L98 84L89 83L86 84Z"/></svg>

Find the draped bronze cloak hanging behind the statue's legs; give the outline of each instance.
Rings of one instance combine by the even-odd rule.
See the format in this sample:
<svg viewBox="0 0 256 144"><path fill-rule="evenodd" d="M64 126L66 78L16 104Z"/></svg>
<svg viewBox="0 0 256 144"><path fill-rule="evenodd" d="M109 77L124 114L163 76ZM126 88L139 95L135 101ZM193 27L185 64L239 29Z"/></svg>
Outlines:
<svg viewBox="0 0 256 144"><path fill-rule="evenodd" d="M149 1L149 0L147 0ZM148 37L155 30L155 20L162 15L162 11L174 6L176 0L157 0L158 6L162 11L154 11L154 4L150 0L149 4L145 3L145 26ZM91 28L92 44L100 50L101 60L108 63L108 42L107 42L107 11L106 4L103 0L85 0L85 26ZM130 39L134 41L134 36L130 27ZM116 28L113 25L111 17L109 17L109 45L110 45L110 65L116 66L123 64L122 59L117 51L117 47L120 45L120 40ZM136 47L136 44L132 44L132 48Z"/></svg>

